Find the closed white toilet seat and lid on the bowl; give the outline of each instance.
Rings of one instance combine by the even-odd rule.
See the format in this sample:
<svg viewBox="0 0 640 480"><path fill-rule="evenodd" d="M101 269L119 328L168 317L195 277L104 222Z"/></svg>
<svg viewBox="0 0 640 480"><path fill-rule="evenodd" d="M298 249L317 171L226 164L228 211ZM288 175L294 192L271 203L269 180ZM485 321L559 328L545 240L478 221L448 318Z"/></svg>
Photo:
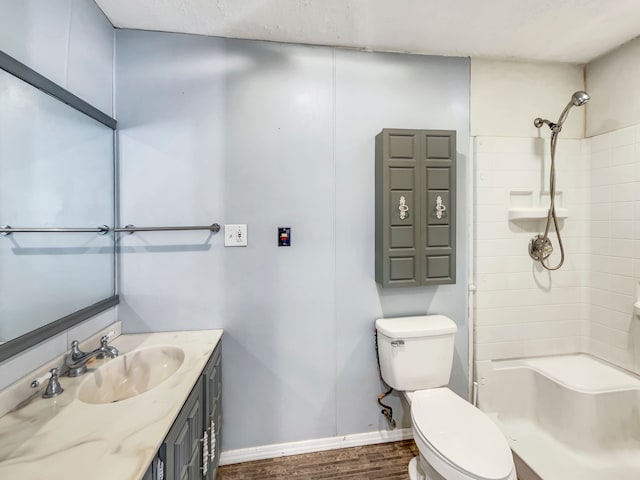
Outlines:
<svg viewBox="0 0 640 480"><path fill-rule="evenodd" d="M411 423L420 453L447 479L515 479L511 449L498 427L448 388L414 393Z"/></svg>

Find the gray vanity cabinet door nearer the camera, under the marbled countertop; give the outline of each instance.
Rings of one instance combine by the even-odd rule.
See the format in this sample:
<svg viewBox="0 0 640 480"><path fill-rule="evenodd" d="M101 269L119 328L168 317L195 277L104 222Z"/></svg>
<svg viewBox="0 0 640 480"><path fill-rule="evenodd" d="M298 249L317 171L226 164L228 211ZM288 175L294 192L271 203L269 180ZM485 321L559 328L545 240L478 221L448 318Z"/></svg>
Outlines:
<svg viewBox="0 0 640 480"><path fill-rule="evenodd" d="M198 379L178 418L165 439L166 480L202 478L202 439L204 425L203 377Z"/></svg>

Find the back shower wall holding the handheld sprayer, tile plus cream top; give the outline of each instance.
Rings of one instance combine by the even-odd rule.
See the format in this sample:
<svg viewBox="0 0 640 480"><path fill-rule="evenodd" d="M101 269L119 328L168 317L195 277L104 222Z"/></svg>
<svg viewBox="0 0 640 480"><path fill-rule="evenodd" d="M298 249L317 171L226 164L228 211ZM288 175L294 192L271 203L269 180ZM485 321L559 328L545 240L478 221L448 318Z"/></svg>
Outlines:
<svg viewBox="0 0 640 480"><path fill-rule="evenodd" d="M555 121L576 90L578 65L471 62L471 131L474 150L474 307L477 361L582 351L588 346L588 150L584 110L571 112L558 141L558 206L564 266L551 274L529 257L529 240L544 220L509 220L523 201L548 206L549 133L537 116ZM523 96L523 92L527 94ZM512 193L513 192L513 193ZM552 242L558 251L555 235ZM557 261L554 254L552 263Z"/></svg>

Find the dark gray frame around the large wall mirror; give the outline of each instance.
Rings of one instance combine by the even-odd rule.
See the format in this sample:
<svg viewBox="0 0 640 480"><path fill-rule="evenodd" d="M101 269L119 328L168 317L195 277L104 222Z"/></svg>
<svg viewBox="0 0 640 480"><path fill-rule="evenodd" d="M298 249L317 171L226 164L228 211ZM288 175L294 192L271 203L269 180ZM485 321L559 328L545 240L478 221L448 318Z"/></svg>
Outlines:
<svg viewBox="0 0 640 480"><path fill-rule="evenodd" d="M55 99L61 101L62 103L67 104L71 108L78 110L79 112L84 113L88 117L102 123L103 125L109 127L113 130L113 168L114 168L114 219L116 218L117 213L117 189L115 186L116 182L116 171L115 165L116 160L116 130L118 122L106 113L98 110L94 106L82 100L80 97L75 96L73 93L65 90L61 86L52 82L48 78L40 75L35 70L27 67L23 63L20 63L13 57L7 55L2 50L0 50L0 69L10 73L14 77L19 78L20 80L28 83L29 85L41 90L42 92L54 97ZM119 296L116 292L117 285L117 259L116 259L116 249L114 242L114 255L113 255L113 268L114 268L114 285L113 291L114 295L100 300L99 302L94 303L93 305L89 305L88 307L77 310L69 315L66 315L62 318L58 318L53 320L51 323L43 325L42 327L36 328L28 333L20 335L14 339L7 341L6 343L0 345L0 362L17 355L28 348L31 348L59 333L64 332L65 330L77 325L78 323L91 318L98 313L104 312L109 308L117 305L120 302Z"/></svg>

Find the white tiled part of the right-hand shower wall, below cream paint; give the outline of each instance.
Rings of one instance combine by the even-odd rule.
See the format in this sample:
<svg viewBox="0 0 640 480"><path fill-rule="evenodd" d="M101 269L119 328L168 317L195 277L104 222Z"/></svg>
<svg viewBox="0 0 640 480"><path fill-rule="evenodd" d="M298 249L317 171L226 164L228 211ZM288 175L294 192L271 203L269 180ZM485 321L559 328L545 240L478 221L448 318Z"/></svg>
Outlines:
<svg viewBox="0 0 640 480"><path fill-rule="evenodd" d="M640 280L640 126L588 140L591 147L589 351L640 373L634 318Z"/></svg>

